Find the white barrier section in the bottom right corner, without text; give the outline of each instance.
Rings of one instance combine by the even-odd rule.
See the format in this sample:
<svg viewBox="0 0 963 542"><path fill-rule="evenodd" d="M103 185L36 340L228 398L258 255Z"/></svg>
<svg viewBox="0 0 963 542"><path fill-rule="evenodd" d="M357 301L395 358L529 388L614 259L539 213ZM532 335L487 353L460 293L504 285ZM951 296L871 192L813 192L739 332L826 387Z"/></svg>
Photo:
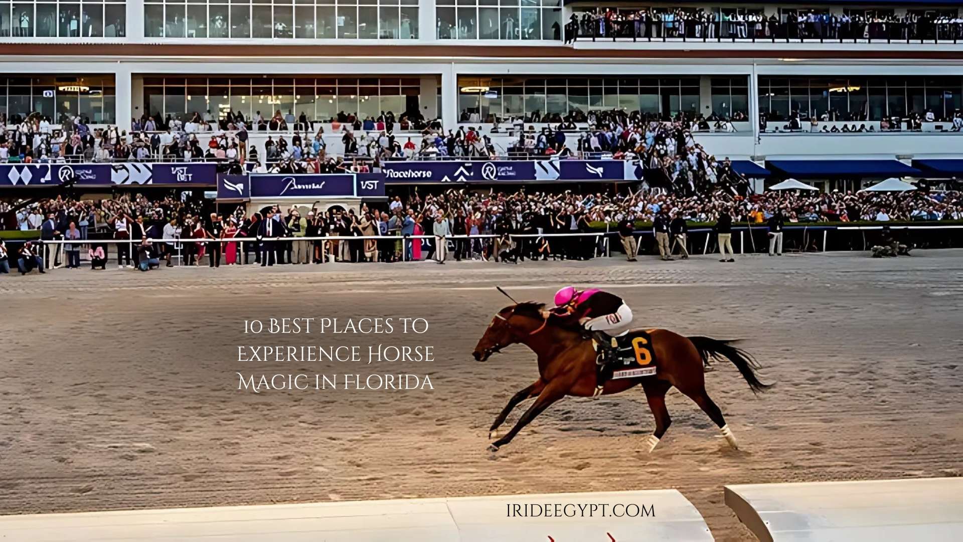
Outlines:
<svg viewBox="0 0 963 542"><path fill-rule="evenodd" d="M725 502L762 542L963 539L963 478L727 485Z"/></svg>

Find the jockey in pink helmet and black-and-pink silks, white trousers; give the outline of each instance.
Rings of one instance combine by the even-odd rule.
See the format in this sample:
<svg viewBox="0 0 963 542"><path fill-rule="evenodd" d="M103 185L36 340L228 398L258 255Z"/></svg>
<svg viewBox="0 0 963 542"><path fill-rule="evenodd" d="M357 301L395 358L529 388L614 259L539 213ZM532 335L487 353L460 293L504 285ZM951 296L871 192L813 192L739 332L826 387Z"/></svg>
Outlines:
<svg viewBox="0 0 963 542"><path fill-rule="evenodd" d="M555 294L555 309L562 321L578 322L602 348L603 356L596 363L604 366L613 357L612 337L629 332L632 310L621 297L597 288L578 290L565 286Z"/></svg>

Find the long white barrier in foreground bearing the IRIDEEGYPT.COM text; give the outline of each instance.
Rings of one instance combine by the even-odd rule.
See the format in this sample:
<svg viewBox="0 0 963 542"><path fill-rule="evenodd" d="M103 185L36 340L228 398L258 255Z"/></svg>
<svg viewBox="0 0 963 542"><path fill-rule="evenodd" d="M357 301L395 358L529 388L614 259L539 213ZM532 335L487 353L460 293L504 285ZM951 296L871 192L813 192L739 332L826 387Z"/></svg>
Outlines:
<svg viewBox="0 0 963 542"><path fill-rule="evenodd" d="M589 508L591 505L595 508ZM546 506L553 516L562 514L561 517L545 517ZM585 513L564 515L566 510L578 509ZM590 516L588 510L593 511ZM529 517L519 517L522 514ZM702 542L712 541L713 537L702 516L682 494L658 490L3 516L0 517L0 539L4 542Z"/></svg>

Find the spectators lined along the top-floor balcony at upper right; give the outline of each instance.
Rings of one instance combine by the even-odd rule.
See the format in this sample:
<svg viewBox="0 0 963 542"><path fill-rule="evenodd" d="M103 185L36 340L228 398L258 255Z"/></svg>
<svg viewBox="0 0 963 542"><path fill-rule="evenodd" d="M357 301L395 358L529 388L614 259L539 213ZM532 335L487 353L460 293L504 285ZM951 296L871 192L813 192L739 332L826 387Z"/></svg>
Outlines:
<svg viewBox="0 0 963 542"><path fill-rule="evenodd" d="M637 40L819 40L915 41L963 38L959 14L877 11L842 14L800 9L765 14L762 9L705 8L597 9L572 14L566 41L627 38Z"/></svg>

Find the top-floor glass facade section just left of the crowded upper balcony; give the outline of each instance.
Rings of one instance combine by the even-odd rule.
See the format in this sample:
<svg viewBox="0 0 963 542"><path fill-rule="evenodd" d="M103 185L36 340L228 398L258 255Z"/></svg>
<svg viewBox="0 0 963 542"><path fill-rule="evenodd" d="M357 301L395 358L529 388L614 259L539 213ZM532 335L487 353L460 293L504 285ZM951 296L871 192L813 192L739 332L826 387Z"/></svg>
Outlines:
<svg viewBox="0 0 963 542"><path fill-rule="evenodd" d="M437 0L439 40L561 40L561 0Z"/></svg>

